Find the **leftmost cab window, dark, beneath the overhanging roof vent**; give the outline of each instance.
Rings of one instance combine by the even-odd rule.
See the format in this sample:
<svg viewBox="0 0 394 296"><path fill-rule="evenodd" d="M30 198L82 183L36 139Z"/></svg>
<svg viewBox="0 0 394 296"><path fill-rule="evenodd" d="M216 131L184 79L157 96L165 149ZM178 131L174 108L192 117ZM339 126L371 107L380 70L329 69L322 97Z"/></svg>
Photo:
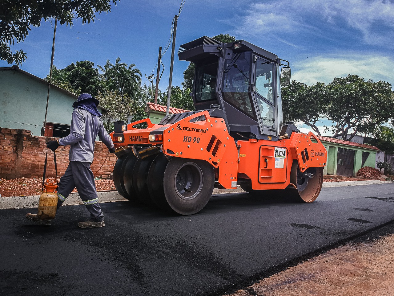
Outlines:
<svg viewBox="0 0 394 296"><path fill-rule="evenodd" d="M197 66L195 98L196 101L216 100L217 62Z"/></svg>

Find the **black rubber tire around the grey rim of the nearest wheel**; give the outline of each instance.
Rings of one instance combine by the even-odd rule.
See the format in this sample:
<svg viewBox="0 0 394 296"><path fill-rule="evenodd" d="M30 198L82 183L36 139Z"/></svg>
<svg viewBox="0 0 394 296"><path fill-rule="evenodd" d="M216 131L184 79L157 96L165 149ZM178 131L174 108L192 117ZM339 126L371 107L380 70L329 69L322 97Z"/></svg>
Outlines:
<svg viewBox="0 0 394 296"><path fill-rule="evenodd" d="M193 176L188 180L191 181L192 186L198 186L199 191L195 193L195 197L185 200L178 192L175 182L178 171L188 170L190 167L201 172L198 176L195 172L191 172ZM173 157L165 168L163 182L165 199L171 209L180 215L193 215L201 211L212 196L215 184L214 167L204 160Z"/></svg>

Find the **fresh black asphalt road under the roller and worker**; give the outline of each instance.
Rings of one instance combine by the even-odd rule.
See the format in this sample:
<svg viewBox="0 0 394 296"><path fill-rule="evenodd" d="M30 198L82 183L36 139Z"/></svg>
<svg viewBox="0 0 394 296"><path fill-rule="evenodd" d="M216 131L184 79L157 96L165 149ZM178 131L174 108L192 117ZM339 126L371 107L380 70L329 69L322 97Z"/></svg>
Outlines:
<svg viewBox="0 0 394 296"><path fill-rule="evenodd" d="M26 220L35 209L0 210L0 295L229 292L394 220L394 184L323 188L312 204L221 194L191 216L101 205L97 229L77 227L84 206L49 227Z"/></svg>

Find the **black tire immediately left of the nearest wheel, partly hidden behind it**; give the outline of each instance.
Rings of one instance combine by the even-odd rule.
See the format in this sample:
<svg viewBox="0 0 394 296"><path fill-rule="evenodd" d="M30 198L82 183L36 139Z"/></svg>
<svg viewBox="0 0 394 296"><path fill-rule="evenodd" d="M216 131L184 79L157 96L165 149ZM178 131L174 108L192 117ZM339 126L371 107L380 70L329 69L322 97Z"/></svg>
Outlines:
<svg viewBox="0 0 394 296"><path fill-rule="evenodd" d="M148 172L148 190L152 202L162 210L171 210L164 194L164 172L168 165L167 157L160 153L153 159Z"/></svg>

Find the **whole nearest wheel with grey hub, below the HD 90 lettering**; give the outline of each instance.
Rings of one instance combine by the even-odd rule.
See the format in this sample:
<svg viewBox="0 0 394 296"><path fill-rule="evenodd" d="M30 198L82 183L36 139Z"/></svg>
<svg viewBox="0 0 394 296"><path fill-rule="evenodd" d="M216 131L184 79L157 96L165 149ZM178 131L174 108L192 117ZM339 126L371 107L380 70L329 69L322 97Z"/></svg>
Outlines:
<svg viewBox="0 0 394 296"><path fill-rule="evenodd" d="M164 194L180 215L193 215L208 203L215 184L214 168L197 159L173 157L164 172Z"/></svg>

